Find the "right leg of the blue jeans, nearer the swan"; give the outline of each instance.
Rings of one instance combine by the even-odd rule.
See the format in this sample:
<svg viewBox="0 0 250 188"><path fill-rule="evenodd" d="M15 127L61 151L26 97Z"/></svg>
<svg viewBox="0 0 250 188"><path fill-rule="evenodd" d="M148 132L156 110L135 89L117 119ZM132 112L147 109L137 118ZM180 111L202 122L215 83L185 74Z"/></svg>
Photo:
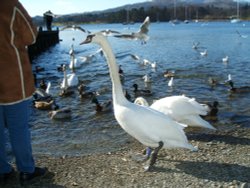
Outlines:
<svg viewBox="0 0 250 188"><path fill-rule="evenodd" d="M3 107L16 166L20 172L33 172L35 168L28 124L29 104L28 100Z"/></svg>

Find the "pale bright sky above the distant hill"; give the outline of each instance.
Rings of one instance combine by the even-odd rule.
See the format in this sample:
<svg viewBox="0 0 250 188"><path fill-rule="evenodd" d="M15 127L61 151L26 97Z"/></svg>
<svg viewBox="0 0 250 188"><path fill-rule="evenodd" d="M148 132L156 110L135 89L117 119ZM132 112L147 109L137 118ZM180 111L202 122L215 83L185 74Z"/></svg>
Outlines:
<svg viewBox="0 0 250 188"><path fill-rule="evenodd" d="M19 0L30 16L42 16L51 10L54 14L83 13L106 10L122 5L141 3L149 0Z"/></svg>

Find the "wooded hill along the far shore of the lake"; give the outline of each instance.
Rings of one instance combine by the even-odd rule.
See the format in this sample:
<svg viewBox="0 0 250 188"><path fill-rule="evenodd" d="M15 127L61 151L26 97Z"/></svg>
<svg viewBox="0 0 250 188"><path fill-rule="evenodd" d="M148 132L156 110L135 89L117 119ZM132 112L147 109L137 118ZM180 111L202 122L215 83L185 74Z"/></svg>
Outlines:
<svg viewBox="0 0 250 188"><path fill-rule="evenodd" d="M241 16L245 19L250 18L250 6L241 1L244 7ZM236 14L235 0L176 0L178 18L185 19L184 9L189 7L189 19L194 19L199 11L199 19L229 19L232 14ZM152 0L142 3L127 4L124 6L111 8L103 11L93 11L84 13L72 13L62 15L54 19L60 23L88 23L88 22L107 22L122 23L126 22L127 12L130 12L130 19L133 22L141 22L145 16L150 16L152 21L169 21L173 19L174 0ZM43 25L43 17L33 18L37 25Z"/></svg>

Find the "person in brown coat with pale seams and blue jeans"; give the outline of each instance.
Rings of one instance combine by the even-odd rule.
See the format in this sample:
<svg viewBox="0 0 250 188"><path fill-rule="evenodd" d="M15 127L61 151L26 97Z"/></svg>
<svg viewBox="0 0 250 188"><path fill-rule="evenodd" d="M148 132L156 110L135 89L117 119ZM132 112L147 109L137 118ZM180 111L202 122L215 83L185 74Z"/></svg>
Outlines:
<svg viewBox="0 0 250 188"><path fill-rule="evenodd" d="M0 35L0 183L14 171L7 161L6 128L23 182L46 169L35 167L28 124L35 85L27 46L36 41L37 30L18 0L0 1Z"/></svg>

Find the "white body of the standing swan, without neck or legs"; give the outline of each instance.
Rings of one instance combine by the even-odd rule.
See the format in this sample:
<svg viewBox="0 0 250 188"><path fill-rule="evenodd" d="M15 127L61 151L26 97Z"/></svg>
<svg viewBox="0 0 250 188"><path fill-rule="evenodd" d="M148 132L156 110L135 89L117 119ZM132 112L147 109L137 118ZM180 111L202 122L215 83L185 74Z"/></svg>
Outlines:
<svg viewBox="0 0 250 188"><path fill-rule="evenodd" d="M194 149L188 143L184 126L154 109L133 103L115 105L115 117L128 134L146 146L157 147L162 141L165 148Z"/></svg>

